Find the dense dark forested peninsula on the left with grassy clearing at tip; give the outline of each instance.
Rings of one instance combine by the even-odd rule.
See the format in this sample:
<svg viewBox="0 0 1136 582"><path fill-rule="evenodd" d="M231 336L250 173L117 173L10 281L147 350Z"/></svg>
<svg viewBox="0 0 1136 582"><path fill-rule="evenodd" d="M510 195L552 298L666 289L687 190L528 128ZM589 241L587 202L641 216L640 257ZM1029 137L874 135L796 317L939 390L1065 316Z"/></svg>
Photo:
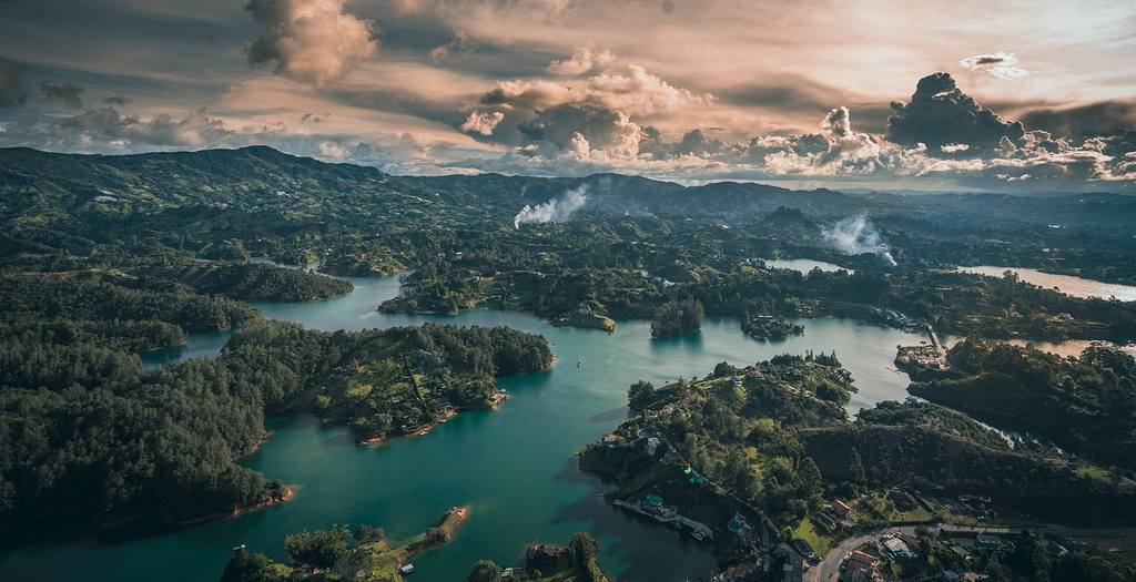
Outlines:
<svg viewBox="0 0 1136 582"><path fill-rule="evenodd" d="M400 433L375 422L386 416L440 417L444 398L484 406L495 376L552 357L543 338L503 328L328 334L179 282L119 279L0 278L0 523L232 515L287 495L233 462L265 438L265 412L315 396L335 374L348 381L318 412L352 419L369 438ZM214 361L144 371L126 351L181 341L183 326L239 321Z"/></svg>

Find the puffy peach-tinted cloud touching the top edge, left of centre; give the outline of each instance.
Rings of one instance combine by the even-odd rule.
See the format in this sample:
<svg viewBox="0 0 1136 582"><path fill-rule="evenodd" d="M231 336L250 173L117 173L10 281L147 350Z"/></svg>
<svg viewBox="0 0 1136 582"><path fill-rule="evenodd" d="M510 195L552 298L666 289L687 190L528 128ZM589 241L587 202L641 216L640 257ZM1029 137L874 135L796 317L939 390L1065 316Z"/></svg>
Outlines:
<svg viewBox="0 0 1136 582"><path fill-rule="evenodd" d="M346 0L251 0L245 10L264 26L249 62L276 61L276 73L317 86L346 74L357 59L378 54L373 20L344 11Z"/></svg>

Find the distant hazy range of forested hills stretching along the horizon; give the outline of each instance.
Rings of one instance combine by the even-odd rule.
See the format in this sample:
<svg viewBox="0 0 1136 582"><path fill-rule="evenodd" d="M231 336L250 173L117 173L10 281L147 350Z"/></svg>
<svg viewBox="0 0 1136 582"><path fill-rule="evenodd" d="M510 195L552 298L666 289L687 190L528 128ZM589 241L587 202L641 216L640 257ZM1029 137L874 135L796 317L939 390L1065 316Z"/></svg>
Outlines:
<svg viewBox="0 0 1136 582"><path fill-rule="evenodd" d="M1089 228L1131 234L1136 196L1114 194L911 195L791 191L751 183L685 187L641 177L585 178L392 176L375 168L325 163L266 146L136 155L45 153L0 150L0 218L65 214L166 214L184 219L186 208L224 208L272 220L318 219L362 226L400 223L511 225L526 204L537 205L576 191L586 199L578 212L593 217L659 216L752 221L787 206L813 217L922 218L938 223L969 220L1002 228ZM562 206L562 204L561 204ZM109 218L108 217L108 218Z"/></svg>

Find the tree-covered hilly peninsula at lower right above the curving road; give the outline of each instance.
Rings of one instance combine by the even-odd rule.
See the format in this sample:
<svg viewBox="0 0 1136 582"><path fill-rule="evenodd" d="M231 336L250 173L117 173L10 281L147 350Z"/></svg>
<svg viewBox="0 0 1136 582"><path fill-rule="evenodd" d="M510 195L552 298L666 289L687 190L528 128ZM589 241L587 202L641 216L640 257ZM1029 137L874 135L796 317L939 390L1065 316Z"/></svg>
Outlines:
<svg viewBox="0 0 1136 582"><path fill-rule="evenodd" d="M1019 515L1064 523L1136 518L1136 481L1121 472L1011 449L968 416L928 403L884 402L846 422L841 403L852 389L826 354L743 369L721 363L705 379L659 389L638 382L628 391L635 415L616 433L657 435L660 450L651 456L642 442L591 446L580 467L615 478L611 499L637 503L650 492L709 524L727 563L750 559L725 529L734 512L763 512L788 526L786 535L817 540L821 550L828 538L807 523L810 516L832 498L868 488L986 495ZM876 503L858 506L866 526L935 518L918 506L893 511L886 496Z"/></svg>

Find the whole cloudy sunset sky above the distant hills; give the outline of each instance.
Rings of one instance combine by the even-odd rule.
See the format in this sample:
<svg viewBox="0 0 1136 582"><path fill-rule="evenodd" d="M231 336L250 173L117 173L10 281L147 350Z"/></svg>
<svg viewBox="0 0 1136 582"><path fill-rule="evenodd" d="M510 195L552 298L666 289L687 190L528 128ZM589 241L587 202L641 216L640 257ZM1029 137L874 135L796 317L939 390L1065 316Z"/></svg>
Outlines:
<svg viewBox="0 0 1136 582"><path fill-rule="evenodd" d="M0 0L0 147L1136 193L1136 3Z"/></svg>

